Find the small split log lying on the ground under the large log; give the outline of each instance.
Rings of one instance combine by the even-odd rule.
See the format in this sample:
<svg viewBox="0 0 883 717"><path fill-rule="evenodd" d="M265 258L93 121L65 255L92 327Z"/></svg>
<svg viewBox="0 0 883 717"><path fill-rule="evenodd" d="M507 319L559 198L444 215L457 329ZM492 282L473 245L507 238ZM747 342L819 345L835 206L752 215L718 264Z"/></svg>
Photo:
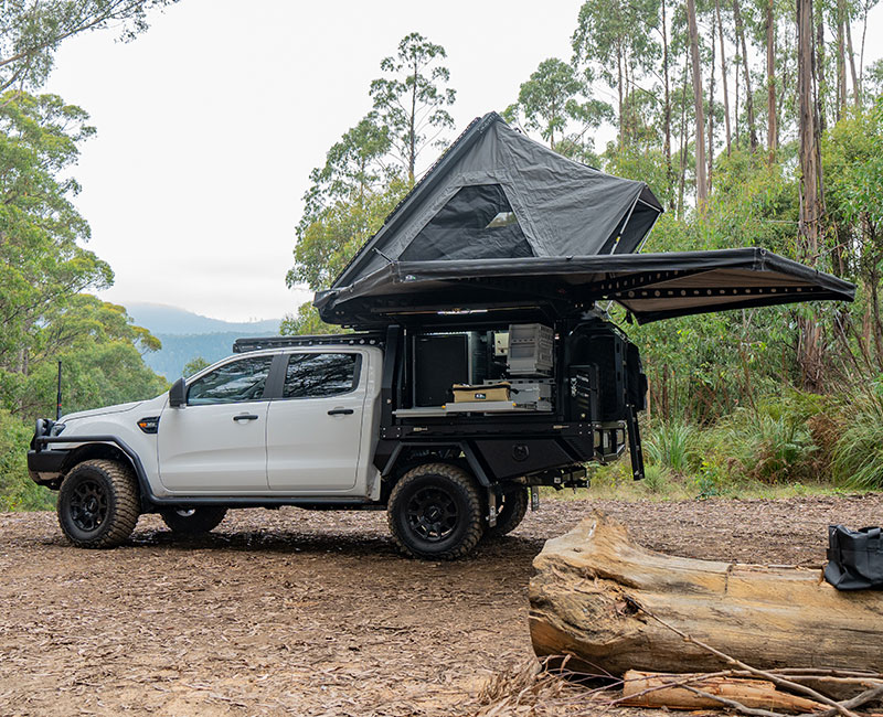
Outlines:
<svg viewBox="0 0 883 717"><path fill-rule="evenodd" d="M685 686L695 688L688 689ZM721 703L695 691L738 702L745 707L776 711L821 711L825 705L776 689L766 679L745 679L703 675L671 675L629 670L623 677L623 699L631 707L669 707L671 709L720 709Z"/></svg>

